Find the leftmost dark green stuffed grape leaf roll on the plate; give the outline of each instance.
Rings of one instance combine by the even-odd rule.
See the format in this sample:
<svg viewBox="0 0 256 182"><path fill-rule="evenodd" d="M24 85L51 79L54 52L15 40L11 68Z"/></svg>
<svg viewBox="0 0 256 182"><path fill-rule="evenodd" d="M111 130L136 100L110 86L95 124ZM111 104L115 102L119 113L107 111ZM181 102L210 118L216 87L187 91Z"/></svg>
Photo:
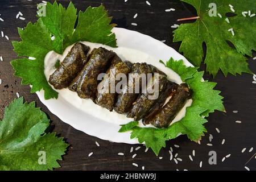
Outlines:
<svg viewBox="0 0 256 182"><path fill-rule="evenodd" d="M77 73L84 67L87 59L89 47L81 43L76 43L68 55L60 63L59 68L49 77L49 83L55 89L67 88L72 80L76 77Z"/></svg>

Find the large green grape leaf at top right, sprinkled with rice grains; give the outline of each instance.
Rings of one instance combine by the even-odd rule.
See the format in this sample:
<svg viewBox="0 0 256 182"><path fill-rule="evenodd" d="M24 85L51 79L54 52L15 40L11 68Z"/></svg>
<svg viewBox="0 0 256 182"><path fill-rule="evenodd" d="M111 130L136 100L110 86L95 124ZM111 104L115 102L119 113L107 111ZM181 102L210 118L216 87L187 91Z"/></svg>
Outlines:
<svg viewBox="0 0 256 182"><path fill-rule="evenodd" d="M207 55L204 63L207 65L207 72L216 76L221 69L225 76L228 73L235 75L242 72L252 73L246 62L246 57L251 56L251 51L256 50L256 16L246 17L243 11L250 10L251 15L255 13L256 3L254 0L233 1L233 0L181 0L195 7L199 19L194 23L181 24L174 31L174 42L182 42L179 51L200 66L203 61L203 43L207 46ZM212 15L210 7L216 5L216 16ZM226 13L233 13L236 16L229 17ZM228 20L226 19L228 18ZM228 23L229 22L229 23ZM232 29L233 28L233 29ZM234 36L232 31L234 31ZM235 48L228 45L232 43Z"/></svg>

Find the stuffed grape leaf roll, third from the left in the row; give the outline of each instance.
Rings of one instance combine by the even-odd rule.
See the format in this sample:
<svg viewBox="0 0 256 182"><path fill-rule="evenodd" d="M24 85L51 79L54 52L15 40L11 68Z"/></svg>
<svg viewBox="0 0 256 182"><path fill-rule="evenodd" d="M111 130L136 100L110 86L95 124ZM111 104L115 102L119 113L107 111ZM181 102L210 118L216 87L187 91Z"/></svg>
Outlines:
<svg viewBox="0 0 256 182"><path fill-rule="evenodd" d="M98 88L102 90L102 93L97 93L96 104L112 111L115 98L117 94L115 93L115 85L117 81L115 81L115 77L119 73L123 73L127 75L130 72L130 67L126 63L123 63L120 57L117 55L114 56L111 61L110 68L106 72L106 75L98 85ZM113 86L114 88L111 88Z"/></svg>

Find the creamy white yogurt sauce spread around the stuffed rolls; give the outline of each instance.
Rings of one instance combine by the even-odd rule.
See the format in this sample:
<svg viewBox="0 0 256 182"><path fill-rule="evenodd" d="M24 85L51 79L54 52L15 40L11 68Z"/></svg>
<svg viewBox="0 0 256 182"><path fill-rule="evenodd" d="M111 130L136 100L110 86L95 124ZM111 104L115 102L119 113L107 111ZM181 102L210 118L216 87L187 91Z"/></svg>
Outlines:
<svg viewBox="0 0 256 182"><path fill-rule="evenodd" d="M98 43L90 43L90 42L81 42L81 43L85 44L86 46L89 46L90 51L92 51L93 48L98 48L98 47L104 47L106 49L113 50L115 53L117 53L119 57L121 57L123 61L129 60L131 61L131 63L146 62L148 64L152 64L156 68L158 68L160 71L163 71L164 73L166 73L168 80L174 81L177 84L182 83L181 78L179 75L177 75L177 73L172 71L170 68L165 67L164 64L159 63L159 60L148 55L147 53L137 51L131 48L126 48L126 47L113 48L113 47L105 46L103 44L98 44ZM57 60L63 61L65 56L67 56L68 52L71 50L72 46L67 47L63 55L59 55L54 51L50 51L47 53L44 59L44 74L46 75L47 80L49 80L49 76L52 75L52 73L55 72L56 70L55 68L56 61ZM108 109L105 109L101 106L98 106L97 104L94 104L94 102L90 99L82 99L79 96L77 96L76 92L72 92L69 89L56 90L56 92L59 93L59 98L63 98L65 101L68 102L68 104L72 105L73 107L76 107L79 110L84 111L84 113L86 114L93 115L94 117L101 119L103 121L115 123L117 125L123 125L133 121L133 119L127 118L126 115L124 114L118 114L114 110L110 112ZM186 107L191 106L191 104L192 104L192 100L190 99L186 102L184 107L179 111L179 113L176 115L172 123L180 121L180 119L182 119L185 116ZM141 121L139 122L139 126L154 127L152 125L144 126Z"/></svg>

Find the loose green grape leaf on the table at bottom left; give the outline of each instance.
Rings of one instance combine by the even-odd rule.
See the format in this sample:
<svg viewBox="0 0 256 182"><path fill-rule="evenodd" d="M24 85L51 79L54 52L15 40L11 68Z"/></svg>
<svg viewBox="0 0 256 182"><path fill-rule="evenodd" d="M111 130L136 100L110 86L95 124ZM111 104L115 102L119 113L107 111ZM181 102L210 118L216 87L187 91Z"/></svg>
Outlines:
<svg viewBox="0 0 256 182"><path fill-rule="evenodd" d="M0 170L48 170L60 167L68 144L55 133L46 134L46 114L23 97L5 108L0 121ZM44 158L45 157L45 158Z"/></svg>

